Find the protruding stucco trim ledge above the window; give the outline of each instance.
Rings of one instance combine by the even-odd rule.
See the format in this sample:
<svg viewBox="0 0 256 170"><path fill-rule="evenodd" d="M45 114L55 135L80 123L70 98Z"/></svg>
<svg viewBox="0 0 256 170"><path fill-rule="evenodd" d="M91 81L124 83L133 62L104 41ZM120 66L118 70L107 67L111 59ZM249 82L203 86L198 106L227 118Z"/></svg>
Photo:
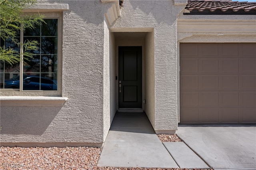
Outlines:
<svg viewBox="0 0 256 170"><path fill-rule="evenodd" d="M62 12L69 10L68 4L34 4L23 12Z"/></svg>

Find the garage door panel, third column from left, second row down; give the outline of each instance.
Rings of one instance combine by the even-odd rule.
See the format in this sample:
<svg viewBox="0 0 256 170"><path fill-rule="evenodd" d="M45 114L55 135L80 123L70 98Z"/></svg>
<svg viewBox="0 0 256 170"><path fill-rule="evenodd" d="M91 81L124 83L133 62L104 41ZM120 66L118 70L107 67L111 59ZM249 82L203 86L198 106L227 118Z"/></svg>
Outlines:
<svg viewBox="0 0 256 170"><path fill-rule="evenodd" d="M220 73L238 73L238 59L220 59Z"/></svg>

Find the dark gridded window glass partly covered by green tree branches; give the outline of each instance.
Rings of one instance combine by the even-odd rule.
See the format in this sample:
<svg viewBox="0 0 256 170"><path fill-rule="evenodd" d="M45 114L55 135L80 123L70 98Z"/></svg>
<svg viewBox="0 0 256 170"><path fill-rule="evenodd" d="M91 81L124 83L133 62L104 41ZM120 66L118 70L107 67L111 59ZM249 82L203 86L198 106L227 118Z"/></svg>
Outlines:
<svg viewBox="0 0 256 170"><path fill-rule="evenodd" d="M0 88L30 90L57 90L58 84L58 19L44 19L45 23L36 29L26 29L15 39L20 42L36 40L38 50L32 50L33 58L10 65L0 61ZM10 40L2 40L1 45L19 51L20 47ZM20 84L22 82L22 84Z"/></svg>

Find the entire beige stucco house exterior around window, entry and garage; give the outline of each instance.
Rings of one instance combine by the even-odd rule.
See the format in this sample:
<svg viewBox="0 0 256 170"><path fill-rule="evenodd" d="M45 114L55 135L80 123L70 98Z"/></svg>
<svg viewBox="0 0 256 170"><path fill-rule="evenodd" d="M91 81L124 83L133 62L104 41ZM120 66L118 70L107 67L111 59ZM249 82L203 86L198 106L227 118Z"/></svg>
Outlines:
<svg viewBox="0 0 256 170"><path fill-rule="evenodd" d="M142 46L141 111L156 133L172 134L179 122L179 43L256 42L255 16L185 16L186 0L38 3L25 12L61 22L61 87L1 90L3 146L102 146L118 110L118 46Z"/></svg>

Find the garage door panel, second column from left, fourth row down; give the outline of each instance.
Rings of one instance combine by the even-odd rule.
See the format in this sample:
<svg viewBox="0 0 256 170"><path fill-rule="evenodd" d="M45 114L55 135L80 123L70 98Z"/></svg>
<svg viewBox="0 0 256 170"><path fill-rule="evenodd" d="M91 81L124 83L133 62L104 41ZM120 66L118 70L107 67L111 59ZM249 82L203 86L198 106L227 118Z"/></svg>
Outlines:
<svg viewBox="0 0 256 170"><path fill-rule="evenodd" d="M201 106L202 107L218 107L219 94L218 92L202 92Z"/></svg>

